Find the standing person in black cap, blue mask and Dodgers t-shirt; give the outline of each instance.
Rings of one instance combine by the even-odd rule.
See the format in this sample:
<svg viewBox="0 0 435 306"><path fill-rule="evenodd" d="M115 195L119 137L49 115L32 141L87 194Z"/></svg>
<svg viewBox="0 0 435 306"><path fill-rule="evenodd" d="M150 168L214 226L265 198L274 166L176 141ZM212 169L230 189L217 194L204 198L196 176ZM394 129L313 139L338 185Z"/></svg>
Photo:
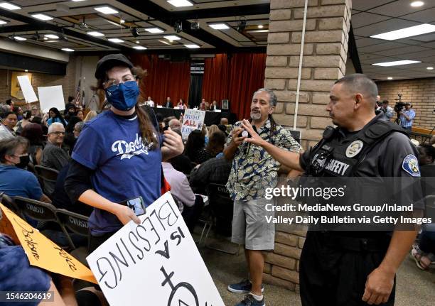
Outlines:
<svg viewBox="0 0 435 306"><path fill-rule="evenodd" d="M122 54L97 62L95 77L111 107L85 124L65 179L72 202L95 208L89 219L90 251L123 224L139 224L133 210L119 203L142 197L148 206L157 200L163 185L161 161L183 153L181 136L171 130L161 136L154 113L136 104L142 75L144 70Z"/></svg>

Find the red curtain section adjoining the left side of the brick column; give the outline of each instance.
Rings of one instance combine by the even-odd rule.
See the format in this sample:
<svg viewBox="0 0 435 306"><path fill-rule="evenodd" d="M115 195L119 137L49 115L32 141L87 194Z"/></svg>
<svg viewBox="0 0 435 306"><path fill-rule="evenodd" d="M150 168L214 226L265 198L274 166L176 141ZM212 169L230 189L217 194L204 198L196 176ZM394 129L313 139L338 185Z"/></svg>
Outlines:
<svg viewBox="0 0 435 306"><path fill-rule="evenodd" d="M264 87L266 53L216 54L205 60L203 98L228 99L232 113L249 118L252 94Z"/></svg>

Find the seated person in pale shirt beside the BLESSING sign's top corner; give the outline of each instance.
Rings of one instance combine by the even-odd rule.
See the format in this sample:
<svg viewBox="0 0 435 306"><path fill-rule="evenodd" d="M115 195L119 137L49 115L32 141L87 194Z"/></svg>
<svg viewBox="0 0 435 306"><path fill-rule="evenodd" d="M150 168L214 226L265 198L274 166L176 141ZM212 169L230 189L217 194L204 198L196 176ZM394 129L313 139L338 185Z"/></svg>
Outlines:
<svg viewBox="0 0 435 306"><path fill-rule="evenodd" d="M186 175L175 170L170 161L162 162L161 165L163 175L171 185L171 194L178 202L178 209L180 209L184 222L186 222L189 231L193 232L204 206L203 198L200 195L195 196Z"/></svg>

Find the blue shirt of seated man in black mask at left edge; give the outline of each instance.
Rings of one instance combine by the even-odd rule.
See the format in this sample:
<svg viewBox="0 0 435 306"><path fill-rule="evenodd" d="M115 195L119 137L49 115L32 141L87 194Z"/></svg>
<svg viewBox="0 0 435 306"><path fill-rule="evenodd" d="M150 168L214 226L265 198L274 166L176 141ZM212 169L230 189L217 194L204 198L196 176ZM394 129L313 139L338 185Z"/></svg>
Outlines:
<svg viewBox="0 0 435 306"><path fill-rule="evenodd" d="M0 165L0 192L33 200L41 200L43 195L36 176L14 165Z"/></svg>

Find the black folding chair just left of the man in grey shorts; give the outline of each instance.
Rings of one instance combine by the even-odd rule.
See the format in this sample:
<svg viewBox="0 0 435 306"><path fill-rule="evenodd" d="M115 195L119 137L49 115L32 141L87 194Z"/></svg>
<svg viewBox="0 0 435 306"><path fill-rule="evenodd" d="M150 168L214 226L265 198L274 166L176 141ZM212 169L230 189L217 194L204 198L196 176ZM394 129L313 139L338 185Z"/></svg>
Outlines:
<svg viewBox="0 0 435 306"><path fill-rule="evenodd" d="M212 226L215 227L215 230L220 229L220 231L226 234L231 234L232 209L234 206L234 202L230 197L230 192L227 190L227 187L225 187L225 185L214 183L210 183L207 189L208 201L210 203L210 212L213 220ZM207 245L208 234L212 226L209 227L207 234L205 234L205 247L238 256L240 245L237 245L236 251L228 251L222 248L215 248L213 246Z"/></svg>

